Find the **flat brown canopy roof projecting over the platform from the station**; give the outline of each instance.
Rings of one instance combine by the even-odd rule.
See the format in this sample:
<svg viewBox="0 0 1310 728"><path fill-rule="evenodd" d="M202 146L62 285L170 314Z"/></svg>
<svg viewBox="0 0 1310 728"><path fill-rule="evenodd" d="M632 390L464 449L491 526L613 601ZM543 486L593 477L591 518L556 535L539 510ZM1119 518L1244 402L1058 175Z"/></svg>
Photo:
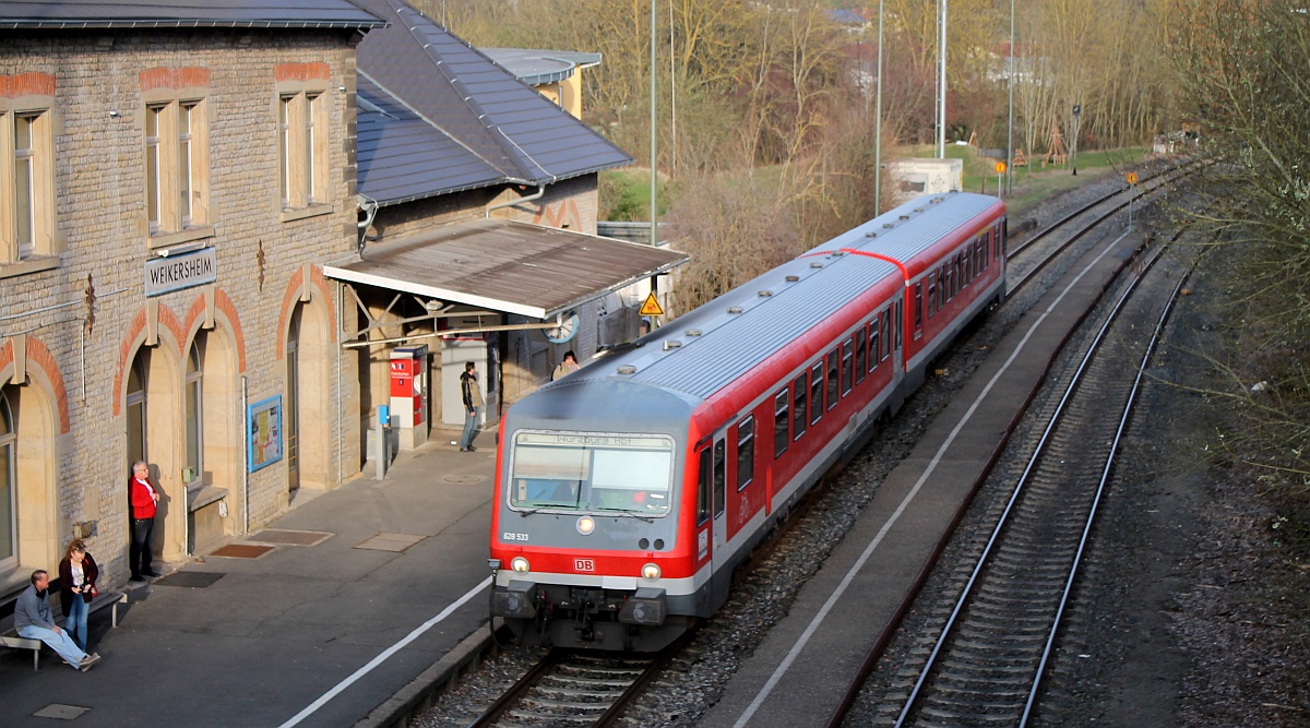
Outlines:
<svg viewBox="0 0 1310 728"><path fill-rule="evenodd" d="M683 253L647 245L489 219L373 246L364 259L325 266L324 272L546 319L686 261Z"/></svg>

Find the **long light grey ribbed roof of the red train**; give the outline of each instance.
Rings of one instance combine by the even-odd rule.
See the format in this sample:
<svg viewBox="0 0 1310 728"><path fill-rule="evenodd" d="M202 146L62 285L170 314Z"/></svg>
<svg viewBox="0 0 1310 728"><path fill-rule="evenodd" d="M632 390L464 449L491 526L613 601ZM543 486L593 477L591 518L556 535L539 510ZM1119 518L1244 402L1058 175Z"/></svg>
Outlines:
<svg viewBox="0 0 1310 728"><path fill-rule="evenodd" d="M705 399L802 338L878 280L901 284L895 264L845 251L875 251L909 263L997 204L996 198L967 192L910 200L680 316L639 339L638 346L588 363L542 391L586 380L618 380Z"/></svg>

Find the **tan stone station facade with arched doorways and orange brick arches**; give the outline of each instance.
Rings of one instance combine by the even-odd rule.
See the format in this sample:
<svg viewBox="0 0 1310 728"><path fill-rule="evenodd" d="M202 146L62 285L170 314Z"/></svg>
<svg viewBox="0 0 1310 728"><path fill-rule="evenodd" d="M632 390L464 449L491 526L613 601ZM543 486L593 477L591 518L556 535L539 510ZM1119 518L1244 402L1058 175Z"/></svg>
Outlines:
<svg viewBox="0 0 1310 728"><path fill-rule="evenodd" d="M288 508L293 483L333 487L358 473L358 373L338 350L341 287L320 270L358 240L358 33L0 35L0 119L12 124L24 100L39 96L24 82L52 80L37 111L54 153L46 249L0 257L9 261L0 262L0 394L10 420L0 456L13 461L4 466L17 524L17 553L0 549L0 596L33 568L54 568L73 536L88 537L110 579L126 579L134 450L144 449L165 494L155 549L168 560L259 528ZM284 209L279 105L297 93L317 105L321 183L310 202ZM152 234L148 107L191 101L193 169L204 177L193 190L193 224L161 223ZM172 189L179 174L164 169L162 185ZM179 261L212 251L216 267L198 285L148 295L147 268L164 251ZM189 365L193 351L198 367ZM198 393L190 405L187 393ZM252 471L245 405L275 398L282 457ZM286 411L293 403L296 471ZM189 423L199 423L203 458L190 488Z"/></svg>

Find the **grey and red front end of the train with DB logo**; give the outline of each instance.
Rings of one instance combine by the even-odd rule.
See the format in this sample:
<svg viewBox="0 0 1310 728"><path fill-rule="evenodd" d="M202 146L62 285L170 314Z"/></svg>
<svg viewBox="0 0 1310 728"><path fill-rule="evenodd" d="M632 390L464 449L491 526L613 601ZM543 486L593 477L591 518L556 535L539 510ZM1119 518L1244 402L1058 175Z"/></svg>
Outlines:
<svg viewBox="0 0 1310 728"><path fill-rule="evenodd" d="M690 530L679 526L689 505L675 486L685 467L673 464L681 446L672 436L519 429L512 437L502 439L510 452L498 462L512 471L496 475L508 487L493 516L491 614L523 643L651 652L709 614L709 588L696 587L703 577L688 563ZM525 446L524 437L536 441ZM576 450L586 462L565 462L574 452L566 440L586 441ZM656 453L601 441L663 445ZM658 471L668 479L655 482ZM566 483L565 496L545 494Z"/></svg>

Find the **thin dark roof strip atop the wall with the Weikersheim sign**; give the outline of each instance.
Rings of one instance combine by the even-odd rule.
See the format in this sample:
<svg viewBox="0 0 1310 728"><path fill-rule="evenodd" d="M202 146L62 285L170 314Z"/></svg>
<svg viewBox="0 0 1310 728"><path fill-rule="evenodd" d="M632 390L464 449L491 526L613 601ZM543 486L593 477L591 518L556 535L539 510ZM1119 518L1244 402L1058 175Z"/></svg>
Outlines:
<svg viewBox="0 0 1310 728"><path fill-rule="evenodd" d="M348 0L4 0L0 29L381 27Z"/></svg>

